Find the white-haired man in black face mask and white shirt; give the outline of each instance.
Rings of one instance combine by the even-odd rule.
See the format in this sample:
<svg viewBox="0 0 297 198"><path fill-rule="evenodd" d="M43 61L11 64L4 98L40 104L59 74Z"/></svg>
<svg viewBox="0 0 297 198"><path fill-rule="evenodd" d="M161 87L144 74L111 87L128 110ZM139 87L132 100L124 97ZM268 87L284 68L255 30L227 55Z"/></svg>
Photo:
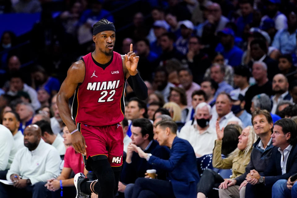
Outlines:
<svg viewBox="0 0 297 198"><path fill-rule="evenodd" d="M214 141L217 134L214 128L209 127L211 119L211 107L206 102L201 102L195 110L196 122L193 125L185 125L179 133L179 138L188 140L192 145L196 157L213 153Z"/></svg>

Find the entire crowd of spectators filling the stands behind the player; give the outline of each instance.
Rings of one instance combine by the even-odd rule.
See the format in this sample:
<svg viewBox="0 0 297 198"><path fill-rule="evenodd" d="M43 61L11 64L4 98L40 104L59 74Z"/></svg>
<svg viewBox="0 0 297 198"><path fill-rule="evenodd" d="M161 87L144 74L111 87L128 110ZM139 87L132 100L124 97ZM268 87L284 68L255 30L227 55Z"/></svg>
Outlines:
<svg viewBox="0 0 297 198"><path fill-rule="evenodd" d="M126 83L116 197L297 197L297 1L0 1L14 13L41 15L0 40L0 179L13 184L0 197L74 197L75 174L96 179L56 94L102 18L148 88L142 101Z"/></svg>

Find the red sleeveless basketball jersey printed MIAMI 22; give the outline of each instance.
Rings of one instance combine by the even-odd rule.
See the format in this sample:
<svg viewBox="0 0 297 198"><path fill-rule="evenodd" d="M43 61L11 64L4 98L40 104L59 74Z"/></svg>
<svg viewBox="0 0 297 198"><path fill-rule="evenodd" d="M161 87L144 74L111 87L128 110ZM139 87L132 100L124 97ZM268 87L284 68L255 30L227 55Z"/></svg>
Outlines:
<svg viewBox="0 0 297 198"><path fill-rule="evenodd" d="M75 90L72 117L76 123L107 126L124 119L125 78L122 57L113 52L110 62L96 62L92 53L82 57L86 70L84 82Z"/></svg>

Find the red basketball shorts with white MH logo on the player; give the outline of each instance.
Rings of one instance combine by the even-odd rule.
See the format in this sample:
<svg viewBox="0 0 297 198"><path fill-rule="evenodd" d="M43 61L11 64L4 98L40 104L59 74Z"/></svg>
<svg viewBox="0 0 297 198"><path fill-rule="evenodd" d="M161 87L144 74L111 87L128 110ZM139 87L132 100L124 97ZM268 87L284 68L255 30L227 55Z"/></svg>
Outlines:
<svg viewBox="0 0 297 198"><path fill-rule="evenodd" d="M115 125L92 127L77 123L77 127L86 141L86 152L84 165L87 170L87 159L92 160L108 159L111 167L120 167L123 164L123 129L118 123Z"/></svg>

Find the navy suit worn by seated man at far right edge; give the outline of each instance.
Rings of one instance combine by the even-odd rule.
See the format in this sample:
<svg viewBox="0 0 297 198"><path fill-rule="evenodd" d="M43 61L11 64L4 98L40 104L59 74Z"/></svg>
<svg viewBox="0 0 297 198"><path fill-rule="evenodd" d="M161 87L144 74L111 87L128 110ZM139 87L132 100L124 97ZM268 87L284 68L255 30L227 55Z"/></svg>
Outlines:
<svg viewBox="0 0 297 198"><path fill-rule="evenodd" d="M286 173L282 174L281 168L281 153L278 151L278 147L274 147L272 150L271 158L266 170L260 173L261 176L265 176L265 185L248 184L245 191L246 197L271 197L271 189L273 184L279 179L289 179L292 174L297 173L297 146L293 145L286 164Z"/></svg>

